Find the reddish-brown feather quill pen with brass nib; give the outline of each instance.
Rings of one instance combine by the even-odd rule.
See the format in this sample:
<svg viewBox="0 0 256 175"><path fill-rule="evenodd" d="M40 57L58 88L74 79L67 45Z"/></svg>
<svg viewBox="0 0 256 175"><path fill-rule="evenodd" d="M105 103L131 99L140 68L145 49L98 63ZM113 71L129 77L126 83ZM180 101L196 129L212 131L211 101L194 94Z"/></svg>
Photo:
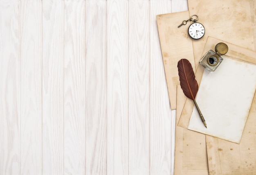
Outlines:
<svg viewBox="0 0 256 175"><path fill-rule="evenodd" d="M200 118L204 123L204 126L207 128L204 117L198 107L198 104L195 102L195 96L198 92L198 82L195 80L195 74L191 63L187 59L181 59L178 62L177 67L180 76L180 86L186 97L190 98L195 103L195 107L198 110Z"/></svg>

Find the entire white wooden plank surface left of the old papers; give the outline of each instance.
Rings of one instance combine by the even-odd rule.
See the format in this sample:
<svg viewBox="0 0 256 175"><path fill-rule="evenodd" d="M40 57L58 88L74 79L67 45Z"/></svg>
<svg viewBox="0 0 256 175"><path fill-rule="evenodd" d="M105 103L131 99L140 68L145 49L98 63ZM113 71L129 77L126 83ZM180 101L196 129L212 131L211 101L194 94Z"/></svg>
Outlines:
<svg viewBox="0 0 256 175"><path fill-rule="evenodd" d="M156 15L186 0L0 0L0 174L171 175Z"/></svg>

